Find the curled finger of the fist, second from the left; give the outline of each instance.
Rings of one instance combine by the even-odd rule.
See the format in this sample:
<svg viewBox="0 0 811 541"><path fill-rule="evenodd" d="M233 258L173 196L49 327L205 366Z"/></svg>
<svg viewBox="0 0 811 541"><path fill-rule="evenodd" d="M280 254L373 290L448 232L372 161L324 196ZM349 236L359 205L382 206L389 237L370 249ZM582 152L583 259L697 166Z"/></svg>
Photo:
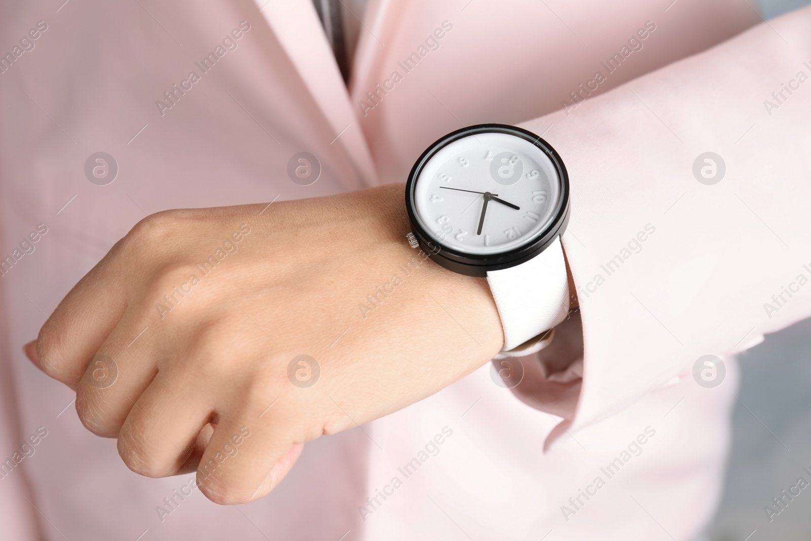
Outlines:
<svg viewBox="0 0 811 541"><path fill-rule="evenodd" d="M133 405L157 374L158 352L174 354L161 348L161 341L156 343L148 331L143 313L128 311L92 355L79 380L76 412L97 436L118 437Z"/></svg>

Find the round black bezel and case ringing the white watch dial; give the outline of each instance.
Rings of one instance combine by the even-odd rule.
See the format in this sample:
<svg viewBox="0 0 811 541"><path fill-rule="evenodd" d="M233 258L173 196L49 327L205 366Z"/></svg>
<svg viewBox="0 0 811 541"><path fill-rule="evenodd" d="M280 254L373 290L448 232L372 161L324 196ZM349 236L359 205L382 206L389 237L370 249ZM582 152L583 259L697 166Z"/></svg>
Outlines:
<svg viewBox="0 0 811 541"><path fill-rule="evenodd" d="M515 135L523 140L529 141L535 147L540 148L547 157L549 157L560 178L560 200L555 217L547 228L536 235L530 242L500 254L466 254L439 243L423 228L423 225L420 224L414 212L414 189L417 186L417 178L422 172L423 167L436 152L439 152L448 144L462 137L476 135L478 133L494 132ZM569 223L569 174L566 171L566 166L560 154L539 135L535 135L531 131L523 128L508 126L506 124L477 124L476 126L461 128L461 130L444 135L444 137L431 144L431 146L423 152L423 155L414 162L414 167L411 168L408 181L405 183L405 208L411 223L411 231L417 238L419 247L422 248L432 260L454 273L460 273L466 276L486 277L488 271L514 267L531 260L545 250L558 236L564 233L566 225Z"/></svg>

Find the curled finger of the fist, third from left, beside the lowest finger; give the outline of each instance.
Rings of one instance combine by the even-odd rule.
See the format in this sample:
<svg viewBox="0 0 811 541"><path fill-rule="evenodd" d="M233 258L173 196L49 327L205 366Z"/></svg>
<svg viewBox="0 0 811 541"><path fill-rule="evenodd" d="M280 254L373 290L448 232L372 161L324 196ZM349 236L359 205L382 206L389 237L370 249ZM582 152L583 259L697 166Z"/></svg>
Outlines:
<svg viewBox="0 0 811 541"><path fill-rule="evenodd" d="M212 436L212 428L206 428L212 419L211 397L199 392L196 380L178 372L159 371L121 428L118 454L135 473L182 473L184 466L196 466Z"/></svg>

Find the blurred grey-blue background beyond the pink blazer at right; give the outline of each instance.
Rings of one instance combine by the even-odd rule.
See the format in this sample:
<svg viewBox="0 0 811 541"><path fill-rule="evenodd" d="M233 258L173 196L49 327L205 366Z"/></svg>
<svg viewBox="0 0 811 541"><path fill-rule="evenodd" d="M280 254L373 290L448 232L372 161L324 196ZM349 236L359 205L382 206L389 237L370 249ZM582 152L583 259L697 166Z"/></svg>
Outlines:
<svg viewBox="0 0 811 541"><path fill-rule="evenodd" d="M770 19L808 3L759 0L757 7ZM744 353L740 371L739 401L732 416L732 453L722 500L707 538L811 539L811 487L801 491L771 522L764 510L800 475L811 483L811 475L803 471L804 466L811 470L811 320L770 335Z"/></svg>

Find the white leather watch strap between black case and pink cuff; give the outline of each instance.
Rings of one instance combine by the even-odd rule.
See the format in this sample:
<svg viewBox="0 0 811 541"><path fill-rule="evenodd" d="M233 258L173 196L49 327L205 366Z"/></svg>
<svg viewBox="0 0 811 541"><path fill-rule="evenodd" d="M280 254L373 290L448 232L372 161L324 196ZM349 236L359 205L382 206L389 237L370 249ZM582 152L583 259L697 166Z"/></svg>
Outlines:
<svg viewBox="0 0 811 541"><path fill-rule="evenodd" d="M569 313L569 277L560 237L525 263L488 272L487 283L504 328L504 354L555 327ZM521 353L540 349L530 350L532 346L521 347Z"/></svg>

